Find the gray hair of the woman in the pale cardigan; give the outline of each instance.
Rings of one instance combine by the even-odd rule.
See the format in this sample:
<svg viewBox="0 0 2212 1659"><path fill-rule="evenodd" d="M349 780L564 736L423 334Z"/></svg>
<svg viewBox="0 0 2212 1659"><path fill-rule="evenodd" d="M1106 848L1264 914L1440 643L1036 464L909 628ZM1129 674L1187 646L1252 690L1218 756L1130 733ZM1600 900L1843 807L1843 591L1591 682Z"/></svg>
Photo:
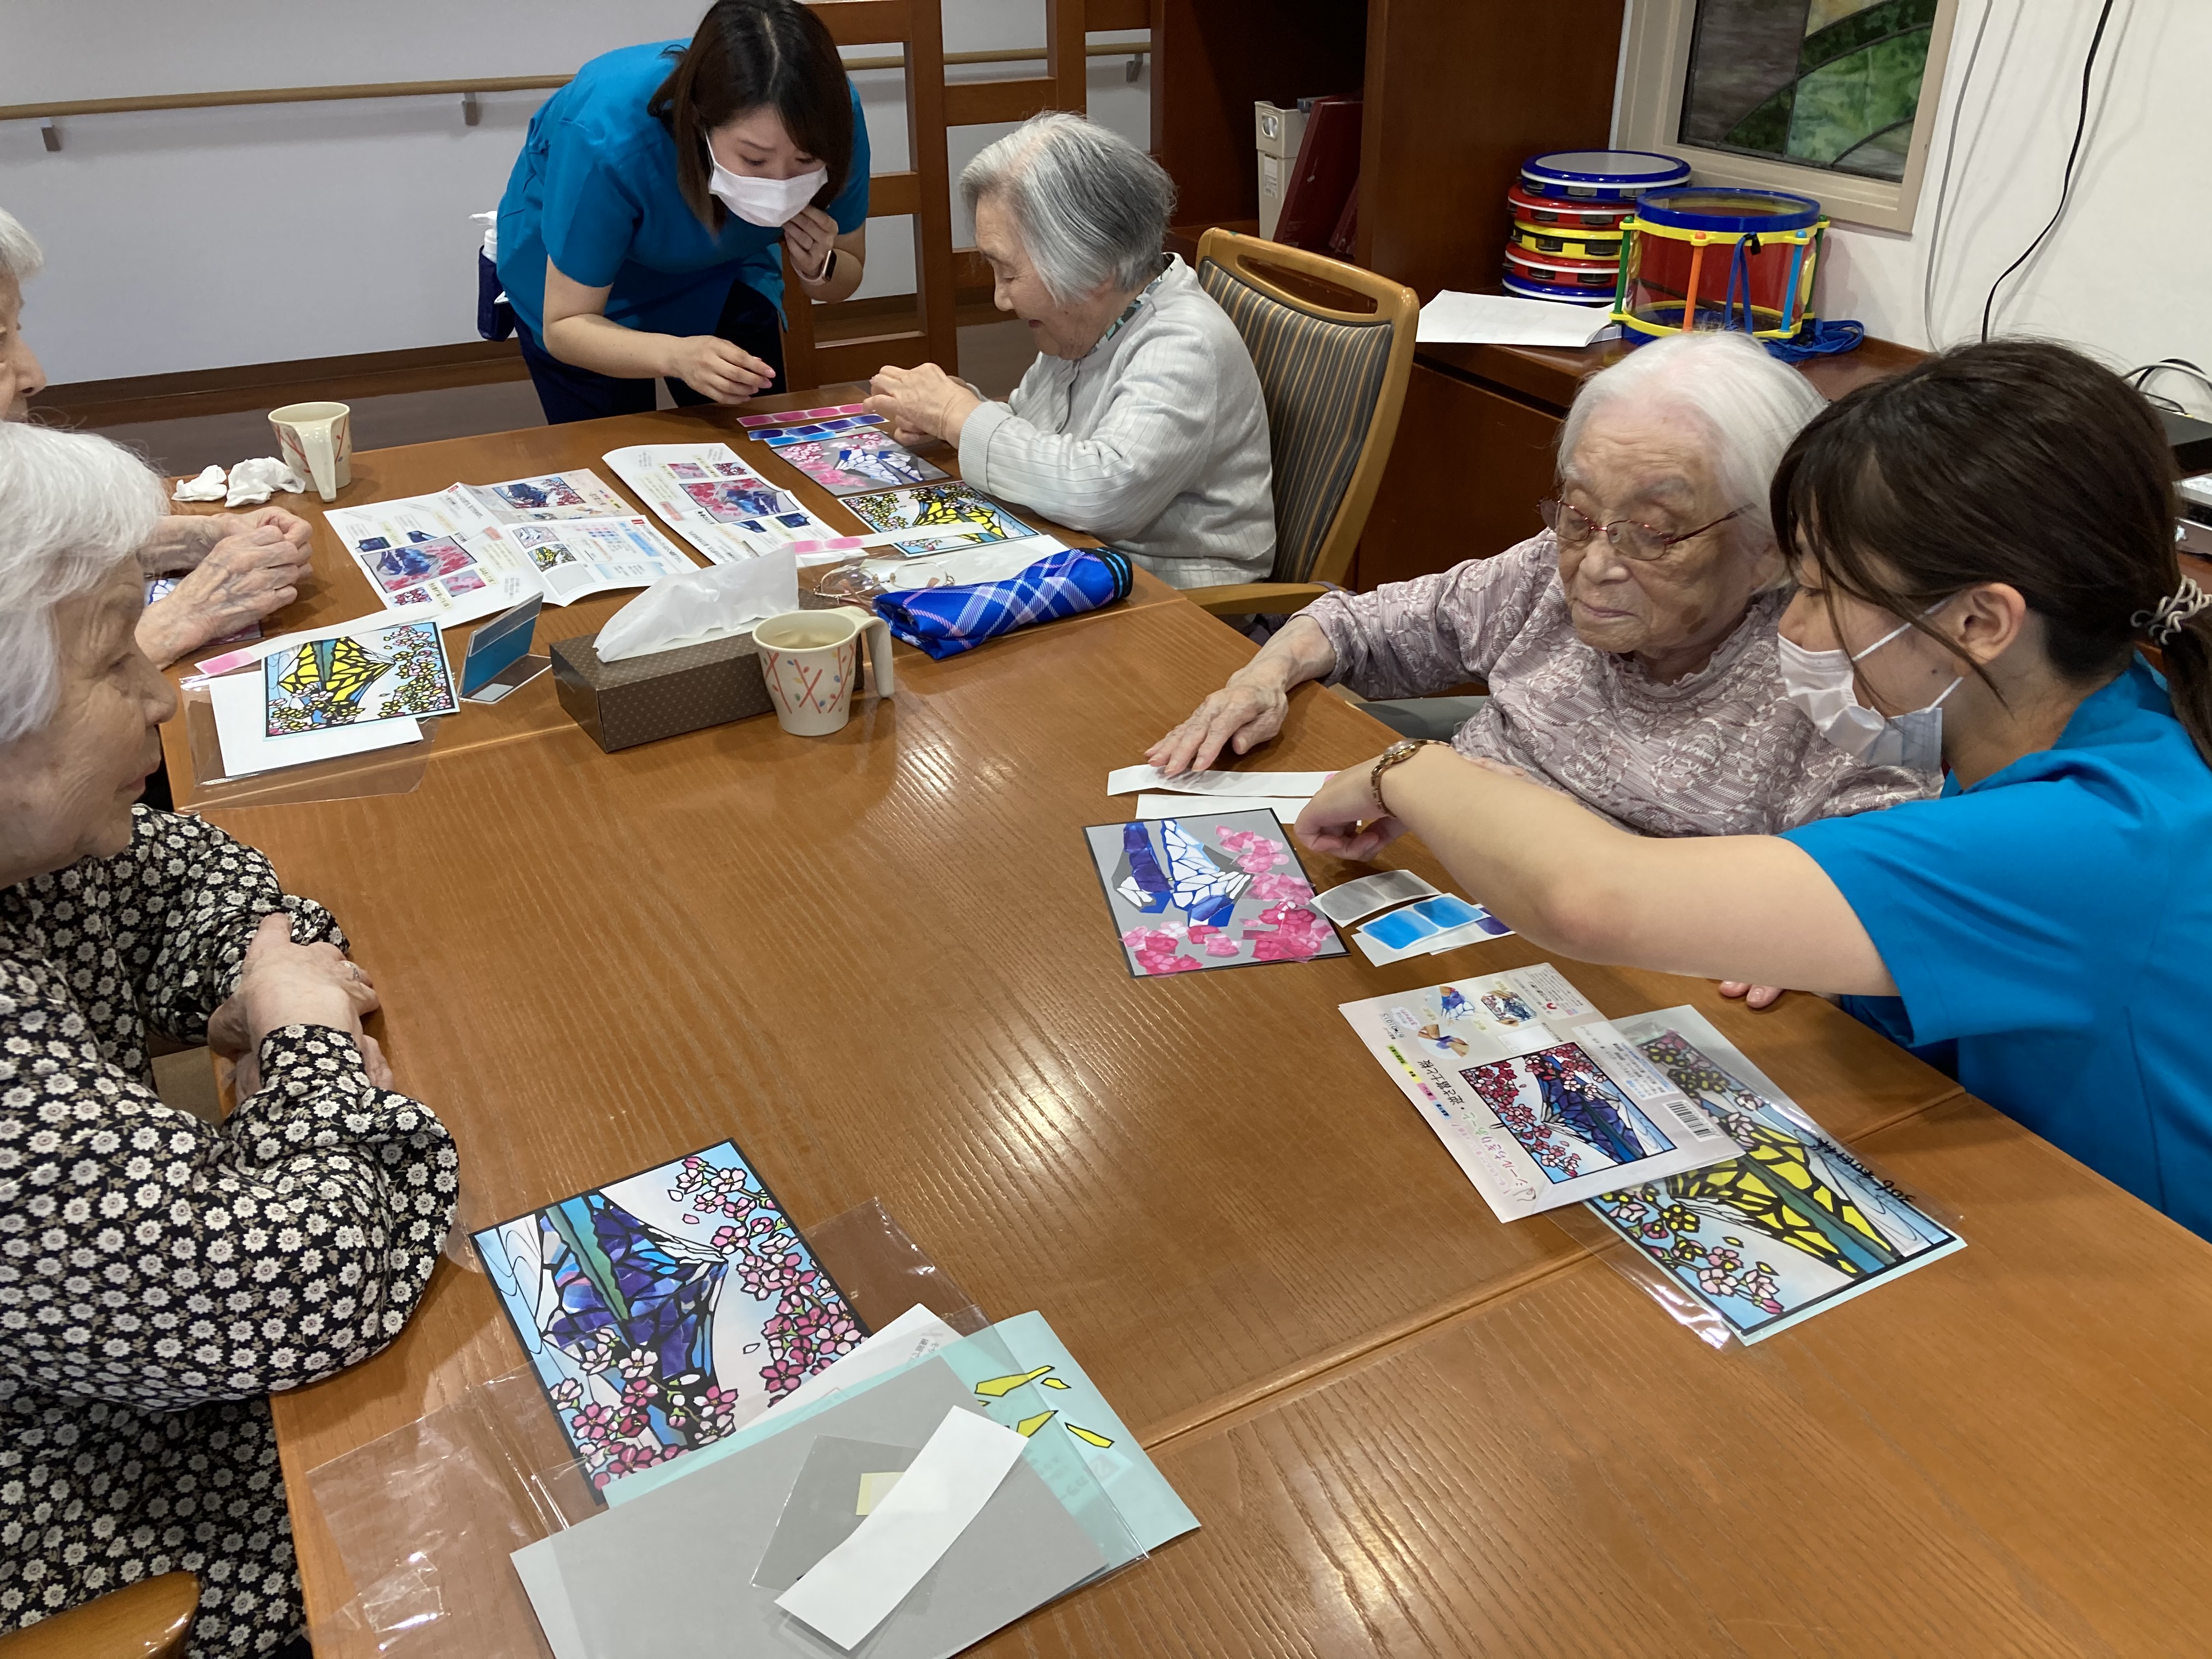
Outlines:
<svg viewBox="0 0 2212 1659"><path fill-rule="evenodd" d="M998 197L1029 263L1066 305L1099 283L1141 288L1159 270L1175 181L1119 133L1046 111L960 168L969 212Z"/></svg>

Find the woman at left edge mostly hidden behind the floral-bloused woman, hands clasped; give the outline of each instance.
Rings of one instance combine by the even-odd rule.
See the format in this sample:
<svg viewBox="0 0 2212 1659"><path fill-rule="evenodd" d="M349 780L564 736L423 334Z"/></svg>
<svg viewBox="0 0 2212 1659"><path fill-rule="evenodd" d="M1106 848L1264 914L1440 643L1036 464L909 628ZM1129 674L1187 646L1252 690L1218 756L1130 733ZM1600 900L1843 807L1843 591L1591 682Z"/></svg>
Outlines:
<svg viewBox="0 0 2212 1659"><path fill-rule="evenodd" d="M44 263L31 232L0 210L0 420L24 420L31 398L46 389L46 372L22 336L22 285ZM310 540L307 520L281 507L157 518L139 566L146 577L179 582L139 617L139 650L168 668L292 604L310 568Z"/></svg>

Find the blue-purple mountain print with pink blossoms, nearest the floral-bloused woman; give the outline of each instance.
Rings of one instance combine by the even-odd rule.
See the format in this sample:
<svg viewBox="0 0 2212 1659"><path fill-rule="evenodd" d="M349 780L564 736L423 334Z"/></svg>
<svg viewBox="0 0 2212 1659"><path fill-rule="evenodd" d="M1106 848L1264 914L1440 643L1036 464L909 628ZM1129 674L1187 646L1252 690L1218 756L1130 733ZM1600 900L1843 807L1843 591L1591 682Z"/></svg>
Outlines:
<svg viewBox="0 0 2212 1659"><path fill-rule="evenodd" d="M741 1429L867 1336L730 1141L473 1241L593 1486Z"/></svg>

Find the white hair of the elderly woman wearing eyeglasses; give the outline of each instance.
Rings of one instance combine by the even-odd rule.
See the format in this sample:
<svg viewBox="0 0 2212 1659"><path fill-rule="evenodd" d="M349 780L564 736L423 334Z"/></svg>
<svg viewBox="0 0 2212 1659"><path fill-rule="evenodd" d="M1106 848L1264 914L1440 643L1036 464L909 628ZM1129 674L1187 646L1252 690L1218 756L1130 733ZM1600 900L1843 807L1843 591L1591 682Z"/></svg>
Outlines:
<svg viewBox="0 0 2212 1659"><path fill-rule="evenodd" d="M1767 509L1774 469L1805 422L1827 407L1812 380L1770 356L1750 334L1670 334L1582 383L1559 429L1562 469L1573 460L1588 418L1619 403L1639 403L1657 414L1679 411L1703 427L1712 473L1730 507L1763 542L1774 542Z"/></svg>

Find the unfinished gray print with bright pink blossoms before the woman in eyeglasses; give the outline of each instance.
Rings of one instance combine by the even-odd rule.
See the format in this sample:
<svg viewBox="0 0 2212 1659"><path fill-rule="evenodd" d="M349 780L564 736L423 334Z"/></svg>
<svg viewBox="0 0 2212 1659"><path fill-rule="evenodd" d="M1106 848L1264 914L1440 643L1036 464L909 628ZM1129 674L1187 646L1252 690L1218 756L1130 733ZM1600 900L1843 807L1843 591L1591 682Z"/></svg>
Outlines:
<svg viewBox="0 0 2212 1659"><path fill-rule="evenodd" d="M1272 812L1097 823L1084 838L1139 980L1345 953Z"/></svg>

